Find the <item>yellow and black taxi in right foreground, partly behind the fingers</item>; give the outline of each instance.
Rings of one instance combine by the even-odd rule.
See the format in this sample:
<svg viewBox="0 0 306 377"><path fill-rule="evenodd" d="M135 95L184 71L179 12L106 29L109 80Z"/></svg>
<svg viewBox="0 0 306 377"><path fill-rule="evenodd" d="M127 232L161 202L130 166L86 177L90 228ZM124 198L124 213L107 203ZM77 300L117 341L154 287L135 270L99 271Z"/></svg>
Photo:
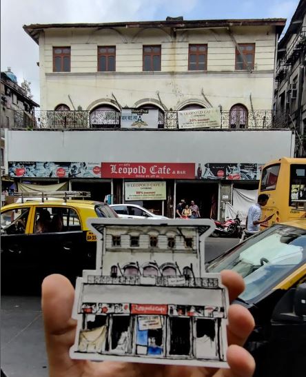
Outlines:
<svg viewBox="0 0 306 377"><path fill-rule="evenodd" d="M232 269L245 291L256 327L245 347L256 376L306 376L306 219L273 225L207 264L208 272Z"/></svg>

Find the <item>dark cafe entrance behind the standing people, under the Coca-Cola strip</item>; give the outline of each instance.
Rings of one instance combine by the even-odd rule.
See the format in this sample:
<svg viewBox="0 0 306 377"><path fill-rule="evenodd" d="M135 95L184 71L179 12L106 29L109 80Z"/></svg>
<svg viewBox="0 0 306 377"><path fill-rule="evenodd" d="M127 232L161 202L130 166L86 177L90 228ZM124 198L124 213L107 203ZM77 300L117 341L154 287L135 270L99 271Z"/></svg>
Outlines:
<svg viewBox="0 0 306 377"><path fill-rule="evenodd" d="M176 203L185 199L187 205L194 201L201 218L218 217L218 185L210 182L176 182Z"/></svg>

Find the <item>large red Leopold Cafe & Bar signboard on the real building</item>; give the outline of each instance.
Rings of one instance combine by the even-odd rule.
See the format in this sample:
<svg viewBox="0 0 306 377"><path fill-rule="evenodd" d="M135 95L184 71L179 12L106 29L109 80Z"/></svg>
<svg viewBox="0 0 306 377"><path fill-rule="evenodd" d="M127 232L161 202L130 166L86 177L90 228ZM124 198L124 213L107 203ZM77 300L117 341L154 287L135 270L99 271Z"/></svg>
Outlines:
<svg viewBox="0 0 306 377"><path fill-rule="evenodd" d="M195 179L194 163L101 163L102 178Z"/></svg>

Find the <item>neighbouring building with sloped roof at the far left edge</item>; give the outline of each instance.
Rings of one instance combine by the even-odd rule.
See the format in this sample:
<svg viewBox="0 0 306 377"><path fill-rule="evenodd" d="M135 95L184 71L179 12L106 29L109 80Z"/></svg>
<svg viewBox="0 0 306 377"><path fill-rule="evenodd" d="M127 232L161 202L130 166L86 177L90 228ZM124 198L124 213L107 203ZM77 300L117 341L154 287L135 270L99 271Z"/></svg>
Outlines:
<svg viewBox="0 0 306 377"><path fill-rule="evenodd" d="M10 67L1 72L1 179L2 190L8 190L14 183L5 176L4 129L35 127L34 108L39 105L27 96L17 83L17 77Z"/></svg>

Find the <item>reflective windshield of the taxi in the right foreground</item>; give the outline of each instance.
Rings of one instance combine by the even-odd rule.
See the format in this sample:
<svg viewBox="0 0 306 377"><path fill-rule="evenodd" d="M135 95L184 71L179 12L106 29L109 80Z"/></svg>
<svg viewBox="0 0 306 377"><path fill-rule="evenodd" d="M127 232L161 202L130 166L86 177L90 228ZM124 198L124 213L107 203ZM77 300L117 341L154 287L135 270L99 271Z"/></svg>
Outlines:
<svg viewBox="0 0 306 377"><path fill-rule="evenodd" d="M305 259L306 230L275 225L216 258L207 271L232 269L241 274L245 291L239 297L252 303L257 296L275 287L296 267L305 263Z"/></svg>

